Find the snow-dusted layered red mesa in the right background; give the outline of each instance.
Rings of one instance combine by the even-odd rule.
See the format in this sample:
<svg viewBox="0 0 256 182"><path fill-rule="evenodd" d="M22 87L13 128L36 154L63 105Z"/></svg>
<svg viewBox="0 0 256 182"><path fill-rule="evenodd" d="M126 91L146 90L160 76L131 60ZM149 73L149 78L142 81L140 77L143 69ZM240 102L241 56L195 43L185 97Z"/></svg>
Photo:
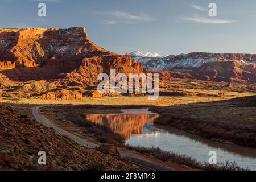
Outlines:
<svg viewBox="0 0 256 182"><path fill-rule="evenodd" d="M190 73L203 80L256 81L256 55L192 52L140 60L146 69Z"/></svg>

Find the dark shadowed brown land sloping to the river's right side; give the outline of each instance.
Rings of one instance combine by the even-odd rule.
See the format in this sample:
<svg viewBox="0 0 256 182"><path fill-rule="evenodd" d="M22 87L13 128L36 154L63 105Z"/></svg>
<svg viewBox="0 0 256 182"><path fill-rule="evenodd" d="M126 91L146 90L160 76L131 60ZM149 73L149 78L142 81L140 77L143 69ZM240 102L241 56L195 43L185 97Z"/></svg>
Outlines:
<svg viewBox="0 0 256 182"><path fill-rule="evenodd" d="M241 146L256 147L256 96L170 107L151 107L154 123Z"/></svg>

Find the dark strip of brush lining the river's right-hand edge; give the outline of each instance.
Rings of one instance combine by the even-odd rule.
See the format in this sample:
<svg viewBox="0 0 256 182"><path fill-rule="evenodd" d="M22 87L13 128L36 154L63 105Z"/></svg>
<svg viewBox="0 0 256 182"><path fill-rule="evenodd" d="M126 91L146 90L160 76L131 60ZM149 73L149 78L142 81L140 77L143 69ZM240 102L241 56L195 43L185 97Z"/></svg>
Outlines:
<svg viewBox="0 0 256 182"><path fill-rule="evenodd" d="M210 123L200 118L184 118L180 115L161 114L154 123L171 125L179 129L193 131L205 138L217 138L241 144L242 146L256 147L256 135L254 129L230 126L225 123Z"/></svg>

